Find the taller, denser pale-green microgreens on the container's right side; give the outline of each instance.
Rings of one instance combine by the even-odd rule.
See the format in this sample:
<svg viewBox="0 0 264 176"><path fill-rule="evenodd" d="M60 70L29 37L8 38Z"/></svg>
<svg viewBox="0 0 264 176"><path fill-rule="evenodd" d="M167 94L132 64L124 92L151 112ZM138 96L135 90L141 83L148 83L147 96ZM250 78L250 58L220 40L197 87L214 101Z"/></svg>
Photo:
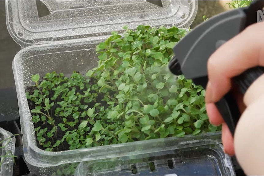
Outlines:
<svg viewBox="0 0 264 176"><path fill-rule="evenodd" d="M144 25L136 31L124 29L123 36L112 32L96 47L98 67L86 74L100 78L99 92L115 92L107 99L107 118L124 121L126 130L118 133L121 141L216 131L208 123L205 90L183 75L175 81L166 71L172 48L186 30Z"/></svg>

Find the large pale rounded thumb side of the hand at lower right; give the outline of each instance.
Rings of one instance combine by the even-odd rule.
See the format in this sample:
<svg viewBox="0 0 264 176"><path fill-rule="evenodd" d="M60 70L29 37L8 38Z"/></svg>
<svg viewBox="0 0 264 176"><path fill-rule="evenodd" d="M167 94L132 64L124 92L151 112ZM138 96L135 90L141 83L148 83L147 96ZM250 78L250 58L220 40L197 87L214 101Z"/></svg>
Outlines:
<svg viewBox="0 0 264 176"><path fill-rule="evenodd" d="M241 115L234 136L236 158L246 175L264 175L264 94Z"/></svg>

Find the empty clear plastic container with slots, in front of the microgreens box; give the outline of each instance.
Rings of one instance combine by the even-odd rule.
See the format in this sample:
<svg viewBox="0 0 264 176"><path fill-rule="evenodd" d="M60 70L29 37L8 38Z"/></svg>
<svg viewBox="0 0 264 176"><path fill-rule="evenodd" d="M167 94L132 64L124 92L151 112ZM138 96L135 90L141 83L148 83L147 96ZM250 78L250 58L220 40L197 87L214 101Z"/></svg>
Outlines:
<svg viewBox="0 0 264 176"><path fill-rule="evenodd" d="M84 161L75 175L235 175L219 133L211 135L168 139L174 146L155 153Z"/></svg>

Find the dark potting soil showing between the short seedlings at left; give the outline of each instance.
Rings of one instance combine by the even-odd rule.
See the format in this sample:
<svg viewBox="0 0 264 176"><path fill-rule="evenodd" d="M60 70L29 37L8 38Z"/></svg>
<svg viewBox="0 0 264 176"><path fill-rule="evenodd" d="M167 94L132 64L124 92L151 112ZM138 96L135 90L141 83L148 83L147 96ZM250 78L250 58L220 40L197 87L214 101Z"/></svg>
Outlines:
<svg viewBox="0 0 264 176"><path fill-rule="evenodd" d="M79 72L77 72L77 73L79 73ZM39 81L39 83L41 82L41 81L43 81L43 80L45 80L45 79L43 79L43 77L42 77L42 79ZM47 80L47 79L46 79ZM89 84L91 84L91 85L93 85L93 84L95 84L97 81L96 80L94 80L93 78L90 78L90 81L89 81ZM62 85L64 82L62 82L60 85ZM27 86L26 87L26 92L29 92L30 93L30 95L33 95L33 93L34 93L34 90L35 89L37 89L35 86L34 87L32 87L32 86ZM41 88L40 88L40 90L42 90ZM69 88L69 91L71 91L71 89ZM77 92L79 92L80 94L84 94L83 93L83 91L85 91L85 89L83 89L83 90L80 90L78 87L77 87L77 90L75 91L76 93ZM92 92L92 90L90 91L90 92ZM47 96L47 98L51 98L51 97L53 97L53 95L55 94L55 91L53 91L53 90L50 90L50 92L49 92L49 95ZM58 98L59 98L59 96L58 96ZM105 108L107 107L107 106L109 106L105 101L101 101L101 99L103 99L104 98L104 94L103 93L99 93L98 95L97 95L97 101L96 102L94 102L94 101L92 101L91 103L85 103L84 101L82 101L81 102L81 104L82 105L88 105L88 108L89 107L94 107L94 105L96 104L96 103L100 103L101 105L100 106L104 106ZM60 101L63 101L63 99L56 99L56 102L60 102ZM55 102L55 100L50 100L50 103L51 102L54 102L54 106L53 107L51 107L51 114L55 114L55 110L56 110L56 108L57 107L60 107L60 105L58 105L56 102ZM32 109L35 109L36 108L36 105L35 105L35 103L32 101L32 100L30 100L30 99L28 99L28 105L29 105L29 109L30 109L30 111L32 110ZM44 107L45 105L44 105L44 102L42 102L42 103L40 103L40 104L38 104L38 106L41 106L41 107ZM87 109L88 109L87 108ZM86 109L86 110L87 110ZM41 110L43 113L44 112L46 112L46 111L44 111L44 110ZM85 110L83 110L83 111L85 111ZM99 110L98 110L99 111ZM95 113L98 113L98 111L97 112L95 112ZM82 112L80 112L80 114L81 114ZM34 115L33 113L32 113L32 115ZM81 123L81 120L75 125L75 126L73 126L73 127L71 127L71 126L69 126L69 125L65 125L65 127L66 128L68 128L66 131L62 131L59 127L58 127L58 124L59 123L62 123L62 124L64 124L64 122L62 121L62 118L60 118L60 117L56 117L56 116L52 116L53 117L53 120L55 120L55 125L57 126L57 137L55 137L55 135L53 135L53 141L51 140L51 138L49 138L49 137L47 137L46 135L43 135L43 137L45 137L46 138L46 141L45 141L45 143L47 142L47 141L50 141L51 142L51 146L52 145L54 145L55 143L56 143L56 141L57 140L61 140L62 138L63 138L63 136L65 135L65 133L66 133L66 131L71 131L71 130L74 130L74 129L76 129L76 127L78 128L78 125L80 125L80 123ZM71 121L70 119L72 119L72 121L74 121L74 118L72 118L72 116L68 116L67 117L67 119L69 120L69 122ZM47 132L49 132L52 128L53 128L53 126L52 125L50 125L50 124L48 124L47 122L45 123L45 124L43 124L43 122L42 121L39 121L38 123L33 123L34 124L34 127L35 128L37 128L37 127L41 127L40 129L44 129L44 128L46 128L47 127ZM92 125L90 124L90 123L88 123L87 125L89 125L90 126L90 130L92 129ZM90 131L89 131L90 132ZM89 132L87 132L87 133L89 133ZM35 135L37 135L37 132L35 132ZM103 140L103 139L102 139ZM39 143L39 141L37 140L37 136L36 136L36 143L37 143L37 146L38 146L38 148L40 148L40 149L43 149L43 150L45 150L46 148L45 147L43 147L42 145L40 145L40 143ZM50 146L50 147L51 147ZM60 144L58 147L56 147L56 148L54 148L52 151L65 151L65 150L70 150L70 145L68 144L68 142L66 141L66 140L64 140L63 141L63 143L62 144Z"/></svg>

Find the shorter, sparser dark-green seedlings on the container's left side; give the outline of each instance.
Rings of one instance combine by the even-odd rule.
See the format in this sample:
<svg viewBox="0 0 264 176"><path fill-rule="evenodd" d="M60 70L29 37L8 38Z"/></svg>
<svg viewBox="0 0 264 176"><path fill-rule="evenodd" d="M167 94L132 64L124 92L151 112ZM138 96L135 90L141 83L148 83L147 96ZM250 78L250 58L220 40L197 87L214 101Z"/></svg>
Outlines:
<svg viewBox="0 0 264 176"><path fill-rule="evenodd" d="M101 125L107 103L96 103L97 84L76 71L70 78L53 72L39 80L39 74L32 75L35 85L31 88L35 89L26 92L26 96L29 106L34 107L31 113L38 144L46 151L91 147L93 142L100 145L97 141L101 138L116 137L108 130L114 126ZM102 141L108 144L108 140Z"/></svg>

